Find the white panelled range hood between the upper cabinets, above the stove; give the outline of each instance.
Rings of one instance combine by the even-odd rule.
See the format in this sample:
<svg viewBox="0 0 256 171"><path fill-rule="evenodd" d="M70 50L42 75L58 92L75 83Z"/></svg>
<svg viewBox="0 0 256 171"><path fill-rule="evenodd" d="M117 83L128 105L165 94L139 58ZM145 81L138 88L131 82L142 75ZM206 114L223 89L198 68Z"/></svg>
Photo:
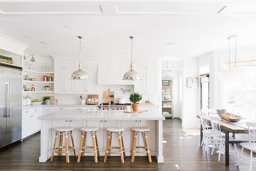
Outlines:
<svg viewBox="0 0 256 171"><path fill-rule="evenodd" d="M134 81L123 80L124 74L130 70L129 60L99 61L99 85L133 85Z"/></svg>

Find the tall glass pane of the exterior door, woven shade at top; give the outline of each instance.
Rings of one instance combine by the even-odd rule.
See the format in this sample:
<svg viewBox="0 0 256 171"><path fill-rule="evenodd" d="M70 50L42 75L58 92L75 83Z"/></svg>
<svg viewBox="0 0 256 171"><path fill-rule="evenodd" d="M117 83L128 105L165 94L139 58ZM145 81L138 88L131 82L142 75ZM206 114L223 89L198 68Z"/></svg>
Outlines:
<svg viewBox="0 0 256 171"><path fill-rule="evenodd" d="M201 85L201 109L209 109L210 107L210 91L209 91L209 74L204 74L200 76Z"/></svg>

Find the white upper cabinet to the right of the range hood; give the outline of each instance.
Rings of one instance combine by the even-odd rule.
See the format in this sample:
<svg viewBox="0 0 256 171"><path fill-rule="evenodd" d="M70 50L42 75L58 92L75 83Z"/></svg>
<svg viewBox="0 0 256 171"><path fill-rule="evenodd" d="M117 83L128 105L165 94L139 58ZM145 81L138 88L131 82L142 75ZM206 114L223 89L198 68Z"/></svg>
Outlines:
<svg viewBox="0 0 256 171"><path fill-rule="evenodd" d="M134 92L158 93L158 60L134 60L134 66L142 79L135 81Z"/></svg>

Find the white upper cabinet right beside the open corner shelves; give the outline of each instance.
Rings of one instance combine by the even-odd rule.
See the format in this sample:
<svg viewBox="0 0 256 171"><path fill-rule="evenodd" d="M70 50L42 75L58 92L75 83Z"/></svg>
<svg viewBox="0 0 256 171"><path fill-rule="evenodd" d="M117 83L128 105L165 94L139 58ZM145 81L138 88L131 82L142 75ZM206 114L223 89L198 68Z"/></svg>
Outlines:
<svg viewBox="0 0 256 171"><path fill-rule="evenodd" d="M74 60L54 60L54 93L74 93Z"/></svg>

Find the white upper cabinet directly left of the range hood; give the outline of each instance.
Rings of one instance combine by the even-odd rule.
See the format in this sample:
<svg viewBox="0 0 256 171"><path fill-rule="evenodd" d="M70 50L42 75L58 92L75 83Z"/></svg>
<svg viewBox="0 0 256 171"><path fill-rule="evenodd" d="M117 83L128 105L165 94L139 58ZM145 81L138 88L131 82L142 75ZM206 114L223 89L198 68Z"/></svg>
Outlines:
<svg viewBox="0 0 256 171"><path fill-rule="evenodd" d="M75 60L76 66L79 62L80 60ZM81 62L89 80L74 80L74 93L98 93L98 60L81 60Z"/></svg>

